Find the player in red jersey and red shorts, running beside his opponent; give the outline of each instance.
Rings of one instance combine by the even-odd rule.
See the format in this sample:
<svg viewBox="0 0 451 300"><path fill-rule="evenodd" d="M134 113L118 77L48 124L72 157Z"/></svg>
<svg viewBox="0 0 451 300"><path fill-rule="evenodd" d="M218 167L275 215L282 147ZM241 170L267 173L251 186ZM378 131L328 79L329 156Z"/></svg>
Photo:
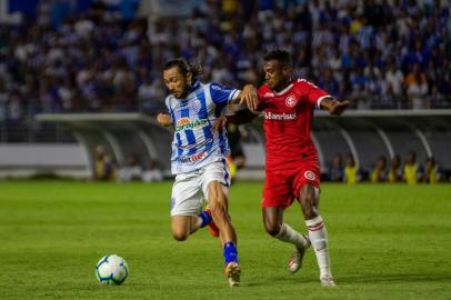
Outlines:
<svg viewBox="0 0 451 300"><path fill-rule="evenodd" d="M267 53L263 71L265 83L259 88L258 100L249 108L257 113L263 112L264 117L264 228L272 237L294 244L295 251L288 266L290 272L301 268L302 258L311 244L317 254L321 284L335 286L330 270L328 234L319 212L320 167L310 132L315 107L339 116L349 101L339 102L313 83L293 79L291 57L287 51ZM233 121L233 116L228 119L240 122ZM283 222L283 212L294 199L301 204L308 237Z"/></svg>

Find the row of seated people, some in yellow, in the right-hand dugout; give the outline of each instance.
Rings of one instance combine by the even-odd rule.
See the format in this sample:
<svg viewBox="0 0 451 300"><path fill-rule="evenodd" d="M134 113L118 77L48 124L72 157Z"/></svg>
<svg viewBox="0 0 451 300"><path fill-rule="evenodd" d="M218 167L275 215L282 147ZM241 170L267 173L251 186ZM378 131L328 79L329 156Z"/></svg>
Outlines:
<svg viewBox="0 0 451 300"><path fill-rule="evenodd" d="M344 158L341 153L335 153L324 180L351 184L364 181L408 184L448 181L447 174L439 168L433 157L420 163L417 160L417 153L412 150L409 151L403 163L399 154L394 154L390 161L387 157L380 156L371 168L360 167L351 153L345 154Z"/></svg>

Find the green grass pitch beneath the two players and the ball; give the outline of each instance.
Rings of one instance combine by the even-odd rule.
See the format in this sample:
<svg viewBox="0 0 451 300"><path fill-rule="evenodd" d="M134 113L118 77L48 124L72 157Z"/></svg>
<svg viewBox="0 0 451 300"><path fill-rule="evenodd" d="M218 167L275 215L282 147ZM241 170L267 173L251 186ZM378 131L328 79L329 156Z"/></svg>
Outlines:
<svg viewBox="0 0 451 300"><path fill-rule="evenodd" d="M297 274L292 247L261 221L262 182L237 182L230 212L242 284L222 273L219 242L170 234L171 182L0 182L0 299L451 299L451 186L322 186L337 288L322 288L312 250ZM305 232L298 204L285 221ZM122 256L124 284L94 266Z"/></svg>

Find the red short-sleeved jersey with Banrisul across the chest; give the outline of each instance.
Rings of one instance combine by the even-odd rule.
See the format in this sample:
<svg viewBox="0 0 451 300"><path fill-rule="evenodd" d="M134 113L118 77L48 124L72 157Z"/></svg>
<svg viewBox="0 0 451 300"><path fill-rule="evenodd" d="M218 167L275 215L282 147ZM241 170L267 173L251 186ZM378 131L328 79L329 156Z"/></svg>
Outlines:
<svg viewBox="0 0 451 300"><path fill-rule="evenodd" d="M264 114L267 169L291 169L302 161L318 160L310 138L313 109L321 99L330 97L329 93L304 79L297 79L280 92L263 84L258 94L258 110Z"/></svg>

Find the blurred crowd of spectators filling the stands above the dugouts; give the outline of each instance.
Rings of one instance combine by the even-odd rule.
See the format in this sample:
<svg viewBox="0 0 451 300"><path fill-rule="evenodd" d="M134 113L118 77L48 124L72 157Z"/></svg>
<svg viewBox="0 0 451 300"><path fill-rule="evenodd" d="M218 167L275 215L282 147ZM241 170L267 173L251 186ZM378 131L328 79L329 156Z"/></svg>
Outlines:
<svg viewBox="0 0 451 300"><path fill-rule="evenodd" d="M57 1L58 2L58 1ZM451 18L440 0L207 0L187 18L123 18L98 3L58 23L0 27L0 122L38 112L163 109L161 66L184 57L203 80L261 83L261 57L357 109L451 107ZM96 3L96 2L94 2Z"/></svg>

